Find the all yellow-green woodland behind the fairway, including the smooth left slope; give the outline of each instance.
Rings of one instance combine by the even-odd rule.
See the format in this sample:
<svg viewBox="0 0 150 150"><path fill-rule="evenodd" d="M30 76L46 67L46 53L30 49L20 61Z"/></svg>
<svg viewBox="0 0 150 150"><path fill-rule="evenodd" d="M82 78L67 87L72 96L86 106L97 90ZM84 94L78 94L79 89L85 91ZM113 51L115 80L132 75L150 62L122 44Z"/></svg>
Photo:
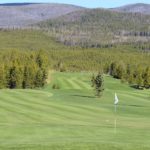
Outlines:
<svg viewBox="0 0 150 150"><path fill-rule="evenodd" d="M0 37L0 88L42 87L49 69L103 71L135 88L150 87L150 52L141 48L148 47L147 43L100 48L68 47L41 31L0 32L3 35Z"/></svg>

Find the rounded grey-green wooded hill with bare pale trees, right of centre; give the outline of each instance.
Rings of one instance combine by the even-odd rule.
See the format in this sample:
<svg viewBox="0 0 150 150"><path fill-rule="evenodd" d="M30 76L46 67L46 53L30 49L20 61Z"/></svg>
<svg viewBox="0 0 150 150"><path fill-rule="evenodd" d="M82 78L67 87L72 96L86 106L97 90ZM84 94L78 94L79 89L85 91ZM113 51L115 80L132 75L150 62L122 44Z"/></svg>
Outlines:
<svg viewBox="0 0 150 150"><path fill-rule="evenodd" d="M148 42L149 24L149 15L90 9L47 20L38 26L67 45L101 46L118 42Z"/></svg>

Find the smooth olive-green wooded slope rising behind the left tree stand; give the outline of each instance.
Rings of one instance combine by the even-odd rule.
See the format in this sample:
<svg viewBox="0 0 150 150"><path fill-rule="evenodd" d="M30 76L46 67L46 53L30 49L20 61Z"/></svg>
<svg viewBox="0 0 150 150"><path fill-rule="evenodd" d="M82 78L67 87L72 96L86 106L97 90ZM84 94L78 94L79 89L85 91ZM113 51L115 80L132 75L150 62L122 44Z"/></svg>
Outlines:
<svg viewBox="0 0 150 150"><path fill-rule="evenodd" d="M52 38L36 30L0 31L0 50L56 50L63 48Z"/></svg>

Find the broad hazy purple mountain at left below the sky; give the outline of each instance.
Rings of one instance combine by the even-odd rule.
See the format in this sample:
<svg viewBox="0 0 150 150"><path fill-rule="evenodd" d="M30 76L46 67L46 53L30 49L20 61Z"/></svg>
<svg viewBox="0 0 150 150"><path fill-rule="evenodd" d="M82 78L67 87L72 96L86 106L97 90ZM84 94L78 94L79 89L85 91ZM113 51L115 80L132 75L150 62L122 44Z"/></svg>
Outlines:
<svg viewBox="0 0 150 150"><path fill-rule="evenodd" d="M0 28L24 27L84 8L67 4L8 3L0 5Z"/></svg>

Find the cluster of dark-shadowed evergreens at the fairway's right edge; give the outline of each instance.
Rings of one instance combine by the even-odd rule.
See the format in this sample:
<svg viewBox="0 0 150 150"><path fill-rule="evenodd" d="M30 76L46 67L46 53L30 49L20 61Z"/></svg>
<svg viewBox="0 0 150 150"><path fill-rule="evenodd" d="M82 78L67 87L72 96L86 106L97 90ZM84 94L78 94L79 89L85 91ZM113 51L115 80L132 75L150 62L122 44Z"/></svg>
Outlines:
<svg viewBox="0 0 150 150"><path fill-rule="evenodd" d="M150 88L150 66L113 62L110 64L107 71L114 78L121 79L123 82L128 82L135 88Z"/></svg>

